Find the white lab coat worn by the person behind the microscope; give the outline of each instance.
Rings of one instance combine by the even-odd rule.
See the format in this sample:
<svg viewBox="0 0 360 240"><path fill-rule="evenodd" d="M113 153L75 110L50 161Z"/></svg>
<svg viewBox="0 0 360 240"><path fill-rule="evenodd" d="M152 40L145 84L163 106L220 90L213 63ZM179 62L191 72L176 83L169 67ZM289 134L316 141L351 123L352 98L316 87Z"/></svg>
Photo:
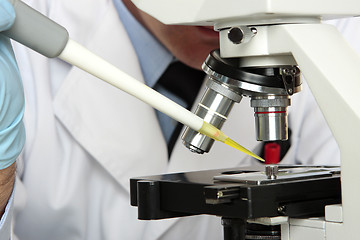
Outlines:
<svg viewBox="0 0 360 240"><path fill-rule="evenodd" d="M112 0L31 0L72 39L143 81L139 63ZM221 239L220 218L137 220L131 177L258 164L215 143L196 155L181 141L170 162L154 110L71 67L16 45L27 131L19 163L15 233L20 240ZM339 153L306 86L289 108L292 147L284 164L338 164ZM237 104L223 128L256 150L253 109ZM19 204L20 203L20 204Z"/></svg>

